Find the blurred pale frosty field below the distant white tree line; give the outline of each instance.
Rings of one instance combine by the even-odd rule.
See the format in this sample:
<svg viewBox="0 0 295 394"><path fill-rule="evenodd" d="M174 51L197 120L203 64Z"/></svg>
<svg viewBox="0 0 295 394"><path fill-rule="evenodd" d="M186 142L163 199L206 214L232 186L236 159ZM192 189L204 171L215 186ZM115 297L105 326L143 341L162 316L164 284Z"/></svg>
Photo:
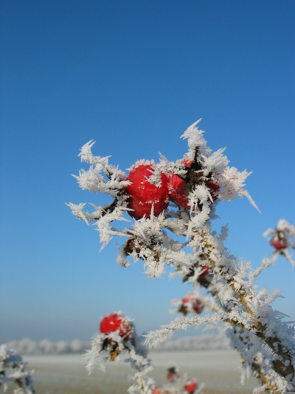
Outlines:
<svg viewBox="0 0 295 394"><path fill-rule="evenodd" d="M230 350L161 351L150 353L155 370L151 376L157 385L166 382L166 368L173 362L180 374L188 373L199 383L205 382L206 394L246 394L257 386L254 379L240 384L240 358ZM34 369L35 388L38 394L124 394L131 385L126 375L131 369L126 364L112 362L107 372L96 370L91 375L85 370L80 354L26 355L27 369Z"/></svg>

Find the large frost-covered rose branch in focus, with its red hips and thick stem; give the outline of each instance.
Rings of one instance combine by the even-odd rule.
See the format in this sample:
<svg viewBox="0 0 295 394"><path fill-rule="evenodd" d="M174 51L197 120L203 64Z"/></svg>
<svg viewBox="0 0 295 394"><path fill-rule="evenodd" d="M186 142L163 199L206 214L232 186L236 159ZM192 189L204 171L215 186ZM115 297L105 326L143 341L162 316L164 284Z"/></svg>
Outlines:
<svg viewBox="0 0 295 394"><path fill-rule="evenodd" d="M175 267L175 273L180 273L183 281L191 282L196 292L204 287L206 294L211 294L213 301L205 294L187 300L184 297L179 312L184 315L195 312L197 316L179 318L150 334L148 340L162 340L191 324L228 323L233 335L232 346L239 350L238 344L243 343L244 348L239 350L243 363L260 379L260 388L276 394L287 393L295 383L294 328L282 322L279 312L270 306L280 297L280 292L270 294L266 288L258 290L253 286L252 280L261 269L249 277L250 262L229 255L223 244L227 227L223 227L219 235L211 230L219 201L246 196L257 208L245 190L245 179L251 172L229 167L224 149L212 152L197 123L182 136L188 140L188 152L183 158L170 162L160 154L158 164L153 160L139 160L131 166L127 176L118 167L109 165L107 157L92 155L90 141L80 154L90 168L81 170L76 179L83 189L111 195L113 202L103 207L93 205L92 213L84 211L85 204L69 205L79 219L87 224L95 222L103 246L112 236L126 238L118 245L117 263L121 267L130 266L129 258L134 262L141 260L147 277L155 278L165 273L165 264L168 264ZM128 221L124 216L126 212L134 219L129 227L119 231L110 225L116 220ZM293 230L280 221L277 229L268 233L272 234L275 253L284 254L290 262L287 245L293 247L294 242L285 239L294 234ZM192 249L193 255L185 253L186 247ZM265 260L262 269L273 262ZM203 309L211 313L199 316ZM114 342L117 343L115 349ZM100 338L98 348L105 346L102 350L107 349L109 355L116 357L112 352L120 352L120 346L126 350L127 343L126 338L123 342L113 337ZM135 390L139 390L139 386L136 387ZM142 385L140 390L146 390L144 387Z"/></svg>

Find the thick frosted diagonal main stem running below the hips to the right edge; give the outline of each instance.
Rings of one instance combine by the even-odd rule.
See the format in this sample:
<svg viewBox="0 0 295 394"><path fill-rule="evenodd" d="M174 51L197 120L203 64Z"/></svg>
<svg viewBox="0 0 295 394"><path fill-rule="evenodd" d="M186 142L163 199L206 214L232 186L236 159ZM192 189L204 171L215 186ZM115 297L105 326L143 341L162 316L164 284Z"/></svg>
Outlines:
<svg viewBox="0 0 295 394"><path fill-rule="evenodd" d="M237 326L242 323L243 328L262 339L276 356L272 361L275 372L294 384L295 342L289 337L286 325L276 318L276 313L269 306L280 293L269 295L266 289L257 292L247 277L249 263L237 262L225 252L218 256L216 237L204 231L196 234L196 238L198 235L202 252L208 256L214 272L228 284L223 294L219 293L219 298L222 305L230 310L232 322L239 323Z"/></svg>

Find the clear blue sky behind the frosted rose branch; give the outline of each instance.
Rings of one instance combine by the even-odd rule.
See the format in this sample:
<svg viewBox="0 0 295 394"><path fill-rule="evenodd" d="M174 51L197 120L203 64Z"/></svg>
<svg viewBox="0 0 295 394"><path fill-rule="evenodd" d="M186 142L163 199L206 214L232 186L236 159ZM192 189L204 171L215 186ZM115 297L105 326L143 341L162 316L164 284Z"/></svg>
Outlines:
<svg viewBox="0 0 295 394"><path fill-rule="evenodd" d="M244 198L219 204L228 248L254 266L262 237L294 215L295 2L1 2L0 338L89 339L121 309L147 332L170 322L170 299L191 288L121 269L116 244L65 203L100 204L71 174L81 146L137 159L181 158L194 121L213 150L253 174ZM84 164L83 164L84 165ZM295 320L295 269L283 259L257 283L283 290Z"/></svg>

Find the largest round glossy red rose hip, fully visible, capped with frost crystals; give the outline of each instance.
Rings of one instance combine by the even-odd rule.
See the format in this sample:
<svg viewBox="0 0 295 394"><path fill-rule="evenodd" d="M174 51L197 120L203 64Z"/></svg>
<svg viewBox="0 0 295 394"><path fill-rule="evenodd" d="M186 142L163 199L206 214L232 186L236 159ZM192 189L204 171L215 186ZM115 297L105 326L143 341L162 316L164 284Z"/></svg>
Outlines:
<svg viewBox="0 0 295 394"><path fill-rule="evenodd" d="M139 165L134 167L126 178L132 182L131 185L126 186L126 191L129 194L128 208L133 209L127 212L135 220L141 219L144 215L149 219L152 205L154 216L159 216L168 207L168 178L161 173L161 186L156 186L147 180L152 172L153 165Z"/></svg>

